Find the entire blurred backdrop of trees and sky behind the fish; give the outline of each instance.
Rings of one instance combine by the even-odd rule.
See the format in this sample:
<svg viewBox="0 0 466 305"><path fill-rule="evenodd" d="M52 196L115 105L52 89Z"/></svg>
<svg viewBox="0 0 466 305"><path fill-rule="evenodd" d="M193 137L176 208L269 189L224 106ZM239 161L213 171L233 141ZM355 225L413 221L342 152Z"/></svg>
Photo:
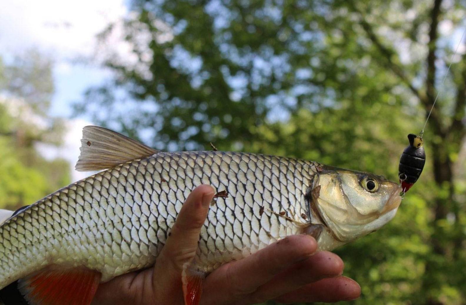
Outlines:
<svg viewBox="0 0 466 305"><path fill-rule="evenodd" d="M2 3L0 208L87 176L88 124L397 181L441 90L397 217L336 251L362 287L341 304L466 304L464 0L67 2Z"/></svg>

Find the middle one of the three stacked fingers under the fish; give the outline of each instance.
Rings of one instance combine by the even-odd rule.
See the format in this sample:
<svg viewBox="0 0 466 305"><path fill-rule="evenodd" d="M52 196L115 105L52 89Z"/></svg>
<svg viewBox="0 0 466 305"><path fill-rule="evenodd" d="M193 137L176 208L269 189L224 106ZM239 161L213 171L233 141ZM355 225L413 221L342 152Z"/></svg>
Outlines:
<svg viewBox="0 0 466 305"><path fill-rule="evenodd" d="M308 259L295 263L288 270L262 285L247 298L245 304L262 303L322 278L340 276L343 273L343 267L343 261L338 255L327 251L317 252Z"/></svg>

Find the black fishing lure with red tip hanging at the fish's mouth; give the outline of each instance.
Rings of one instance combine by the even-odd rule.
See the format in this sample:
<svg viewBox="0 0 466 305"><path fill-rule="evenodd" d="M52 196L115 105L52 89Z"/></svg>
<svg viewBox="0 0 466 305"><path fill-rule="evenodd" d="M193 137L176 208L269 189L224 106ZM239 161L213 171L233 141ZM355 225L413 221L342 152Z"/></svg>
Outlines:
<svg viewBox="0 0 466 305"><path fill-rule="evenodd" d="M409 146L401 154L398 165L398 177L403 192L408 192L411 186L418 181L425 164L425 150L422 136L409 134Z"/></svg>

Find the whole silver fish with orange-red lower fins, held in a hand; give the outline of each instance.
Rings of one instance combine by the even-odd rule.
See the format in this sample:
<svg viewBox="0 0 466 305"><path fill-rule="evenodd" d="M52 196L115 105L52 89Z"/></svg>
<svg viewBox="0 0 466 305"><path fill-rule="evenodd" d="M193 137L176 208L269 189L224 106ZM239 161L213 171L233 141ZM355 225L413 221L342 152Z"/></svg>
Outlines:
<svg viewBox="0 0 466 305"><path fill-rule="evenodd" d="M83 128L81 143L75 168L101 171L0 226L0 289L18 280L32 305L89 305L100 283L152 266L200 184L217 191L195 259L204 274L294 234L332 250L384 226L401 203L400 186L384 177L313 161L164 152L96 126Z"/></svg>

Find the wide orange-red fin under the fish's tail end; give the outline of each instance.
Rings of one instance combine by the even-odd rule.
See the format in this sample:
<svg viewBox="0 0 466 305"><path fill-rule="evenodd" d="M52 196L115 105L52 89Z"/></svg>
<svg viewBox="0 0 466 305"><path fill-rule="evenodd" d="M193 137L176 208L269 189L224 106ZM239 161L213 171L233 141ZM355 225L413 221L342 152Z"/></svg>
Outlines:
<svg viewBox="0 0 466 305"><path fill-rule="evenodd" d="M101 273L87 268L48 266L18 281L18 289L31 305L89 305Z"/></svg>

